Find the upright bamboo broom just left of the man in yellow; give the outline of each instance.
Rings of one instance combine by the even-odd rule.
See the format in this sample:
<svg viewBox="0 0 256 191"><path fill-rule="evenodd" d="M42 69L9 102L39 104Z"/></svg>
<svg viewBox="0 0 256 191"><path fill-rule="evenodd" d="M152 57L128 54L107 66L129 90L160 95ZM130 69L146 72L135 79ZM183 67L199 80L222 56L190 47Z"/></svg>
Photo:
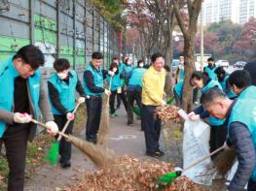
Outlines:
<svg viewBox="0 0 256 191"><path fill-rule="evenodd" d="M111 90L111 84L112 84L113 77L110 78L109 81L109 91ZM97 144L104 144L105 143L105 137L109 133L109 97L110 95L107 95L107 101L104 108L104 111L101 115L99 129L98 129L98 141Z"/></svg>

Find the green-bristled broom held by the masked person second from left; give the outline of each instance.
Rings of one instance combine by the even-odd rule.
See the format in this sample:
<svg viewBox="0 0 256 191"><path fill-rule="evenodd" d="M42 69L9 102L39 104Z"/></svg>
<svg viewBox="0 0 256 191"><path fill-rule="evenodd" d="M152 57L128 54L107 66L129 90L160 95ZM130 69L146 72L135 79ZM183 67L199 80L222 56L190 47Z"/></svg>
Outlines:
<svg viewBox="0 0 256 191"><path fill-rule="evenodd" d="M72 114L74 114L77 111L79 106L80 106L80 103L77 104L77 106L74 109L74 111L72 112ZM65 133L65 131L66 131L66 129L67 129L67 127L68 127L70 122L71 122L71 120L69 120L69 119L66 121L63 129L61 130L61 133ZM61 138L62 138L62 136L59 134L57 140L54 143L52 143L52 145L50 147L50 150L49 150L49 152L48 152L48 154L46 156L46 158L48 159L48 161L52 165L56 165L56 163L57 163L57 160L58 160L58 150L59 150L59 142L60 142Z"/></svg>

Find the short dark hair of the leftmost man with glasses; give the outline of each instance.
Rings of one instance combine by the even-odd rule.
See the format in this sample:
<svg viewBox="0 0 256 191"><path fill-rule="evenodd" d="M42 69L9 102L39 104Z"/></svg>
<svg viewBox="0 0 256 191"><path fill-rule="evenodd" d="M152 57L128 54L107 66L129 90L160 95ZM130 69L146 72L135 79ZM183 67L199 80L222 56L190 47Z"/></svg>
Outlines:
<svg viewBox="0 0 256 191"><path fill-rule="evenodd" d="M43 52L33 45L19 48L13 60L17 58L21 58L26 64L29 64L33 70L36 70L45 64L45 56Z"/></svg>

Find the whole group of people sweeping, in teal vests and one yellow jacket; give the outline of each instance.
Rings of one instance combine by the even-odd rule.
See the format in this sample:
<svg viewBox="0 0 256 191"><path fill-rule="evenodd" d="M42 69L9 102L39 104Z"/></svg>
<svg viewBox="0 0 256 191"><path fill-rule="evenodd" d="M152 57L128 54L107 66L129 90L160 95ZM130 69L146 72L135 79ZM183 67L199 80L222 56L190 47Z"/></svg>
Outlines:
<svg viewBox="0 0 256 191"><path fill-rule="evenodd" d="M182 61L183 59L183 61ZM61 131L67 120L72 120L65 133L72 134L76 103L86 103L86 140L97 142L97 132L102 109L102 94L110 96L110 113L116 115L116 95L123 101L128 113L128 125L133 124L131 107L134 100L141 111L141 129L144 131L146 155L162 157L160 149L161 119L155 111L165 106L165 58L161 53L151 56L146 69L142 60L133 67L128 57L123 62L113 58L109 70L101 67L103 55L93 52L83 81L71 69L68 60L55 60L55 73L48 80L48 93L42 82L39 67L45 63L44 54L29 45L0 65L0 141L5 144L10 174L8 190L23 190L27 142L32 141L37 127L31 122L39 120L40 111L49 127ZM181 101L184 58L181 57L178 78L174 86L176 104ZM249 68L249 66L248 66ZM249 70L250 71L250 70ZM227 75L217 68L213 58L208 59L204 72L194 72L190 83L201 89L201 107L189 113L191 120L208 118L211 126L210 151L223 144L226 149L235 149L238 155L238 171L229 185L229 190L240 190L248 182L248 190L256 189L256 93L251 74L246 70ZM108 82L110 91L105 88ZM179 87L177 87L179 85ZM76 99L76 92L80 95ZM235 99L236 98L236 99ZM71 144L60 141L59 163L62 168L71 166Z"/></svg>

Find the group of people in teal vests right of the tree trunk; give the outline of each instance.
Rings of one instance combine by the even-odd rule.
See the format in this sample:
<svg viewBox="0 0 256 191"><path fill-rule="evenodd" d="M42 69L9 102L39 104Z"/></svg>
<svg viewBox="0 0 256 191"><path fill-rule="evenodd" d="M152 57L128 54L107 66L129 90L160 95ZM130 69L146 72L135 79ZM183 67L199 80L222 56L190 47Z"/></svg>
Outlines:
<svg viewBox="0 0 256 191"><path fill-rule="evenodd" d="M190 84L201 90L201 106L188 114L191 120L207 119L210 124L210 152L225 145L235 149L238 170L228 190L256 190L256 63L228 74L212 57L203 72L194 72ZM180 67L182 69L182 67ZM183 80L174 86L179 104ZM214 157L214 156L213 156Z"/></svg>

